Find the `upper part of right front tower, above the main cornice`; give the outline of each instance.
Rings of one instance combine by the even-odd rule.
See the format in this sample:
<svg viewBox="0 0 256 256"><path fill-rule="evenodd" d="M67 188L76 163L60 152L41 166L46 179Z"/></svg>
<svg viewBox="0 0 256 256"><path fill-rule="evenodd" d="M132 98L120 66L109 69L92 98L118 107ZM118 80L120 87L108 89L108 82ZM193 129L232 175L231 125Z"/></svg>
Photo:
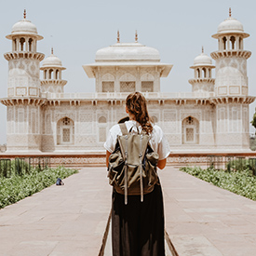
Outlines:
<svg viewBox="0 0 256 256"><path fill-rule="evenodd" d="M216 61L216 96L247 96L247 59L251 52L244 50L244 38L249 34L240 21L231 17L231 9L212 37L218 39L218 51L210 55Z"/></svg>

